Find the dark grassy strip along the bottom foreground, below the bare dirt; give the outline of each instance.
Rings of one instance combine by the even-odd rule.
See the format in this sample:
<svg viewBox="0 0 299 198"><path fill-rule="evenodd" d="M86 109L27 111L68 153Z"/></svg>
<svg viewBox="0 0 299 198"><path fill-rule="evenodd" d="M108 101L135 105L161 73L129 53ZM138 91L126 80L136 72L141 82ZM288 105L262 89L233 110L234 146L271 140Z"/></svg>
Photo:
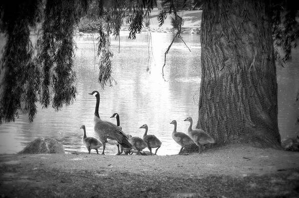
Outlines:
<svg viewBox="0 0 299 198"><path fill-rule="evenodd" d="M2 197L299 197L299 170L247 177L174 177L105 169L65 172L19 168L17 171L17 175L5 178L1 169Z"/></svg>

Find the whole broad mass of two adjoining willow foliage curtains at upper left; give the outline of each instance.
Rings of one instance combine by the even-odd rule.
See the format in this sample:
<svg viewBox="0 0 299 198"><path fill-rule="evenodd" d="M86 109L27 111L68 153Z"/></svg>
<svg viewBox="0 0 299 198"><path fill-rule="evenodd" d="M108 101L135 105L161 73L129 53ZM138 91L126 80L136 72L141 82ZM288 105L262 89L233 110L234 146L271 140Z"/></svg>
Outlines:
<svg viewBox="0 0 299 198"><path fill-rule="evenodd" d="M0 68L0 115L5 122L14 121L19 113L28 114L32 122L36 102L48 107L52 101L52 107L59 110L75 97L73 32L87 1L43 2L0 3L0 30L6 37ZM35 57L30 31L41 21Z"/></svg>

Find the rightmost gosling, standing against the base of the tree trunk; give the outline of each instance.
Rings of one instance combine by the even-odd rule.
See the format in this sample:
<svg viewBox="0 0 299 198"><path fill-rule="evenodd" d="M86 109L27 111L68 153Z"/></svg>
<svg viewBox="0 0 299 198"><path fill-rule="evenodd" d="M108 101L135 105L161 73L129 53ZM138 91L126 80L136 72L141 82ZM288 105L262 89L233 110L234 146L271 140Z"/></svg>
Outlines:
<svg viewBox="0 0 299 198"><path fill-rule="evenodd" d="M204 149L206 144L214 144L215 140L202 129L192 129L193 120L191 117L186 118L184 121L189 121L190 125L188 127L188 135L194 141L194 143L199 147L199 153Z"/></svg>

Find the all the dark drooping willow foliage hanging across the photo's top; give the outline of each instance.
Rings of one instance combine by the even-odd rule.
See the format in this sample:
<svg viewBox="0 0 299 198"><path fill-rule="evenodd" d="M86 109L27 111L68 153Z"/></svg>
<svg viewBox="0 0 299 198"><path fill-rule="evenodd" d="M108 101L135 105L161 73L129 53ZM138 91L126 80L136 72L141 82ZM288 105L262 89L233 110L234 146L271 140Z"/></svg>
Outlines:
<svg viewBox="0 0 299 198"><path fill-rule="evenodd" d="M119 36L121 27L127 24L129 38L134 39L157 6L156 0L12 1L0 2L0 32L6 38L0 67L0 117L5 122L14 121L19 113L28 114L32 122L37 103L43 108L51 105L55 110L71 104L76 97L73 37L80 18L86 16L100 21L98 81L104 87L113 82L111 36ZM297 46L298 6L292 0L269 3L274 43L285 52L281 57L276 50L276 57L283 62L291 58L291 49ZM182 21L176 13L176 0L162 0L162 4L157 16L161 25L171 13L176 21ZM37 24L41 24L41 33L33 46L29 36Z"/></svg>

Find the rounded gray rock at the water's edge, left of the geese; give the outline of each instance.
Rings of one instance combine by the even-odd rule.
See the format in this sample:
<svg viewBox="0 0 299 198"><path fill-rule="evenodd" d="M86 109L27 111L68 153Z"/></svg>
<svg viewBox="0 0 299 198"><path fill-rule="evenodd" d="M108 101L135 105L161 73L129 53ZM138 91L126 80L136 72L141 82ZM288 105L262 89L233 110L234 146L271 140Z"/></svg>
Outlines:
<svg viewBox="0 0 299 198"><path fill-rule="evenodd" d="M37 138L30 142L20 154L64 153L63 145L53 138Z"/></svg>

